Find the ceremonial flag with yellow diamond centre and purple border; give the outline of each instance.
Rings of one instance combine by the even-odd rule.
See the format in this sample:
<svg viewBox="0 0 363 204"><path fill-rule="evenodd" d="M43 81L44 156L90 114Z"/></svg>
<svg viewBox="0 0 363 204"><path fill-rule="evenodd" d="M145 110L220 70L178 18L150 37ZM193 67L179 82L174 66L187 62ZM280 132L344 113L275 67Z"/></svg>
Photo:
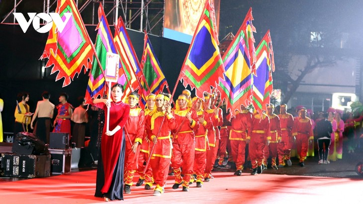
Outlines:
<svg viewBox="0 0 363 204"><path fill-rule="evenodd" d="M241 110L240 105L247 107L251 103L252 62L250 53L253 51L250 52L250 49L254 49L254 45L248 44L253 42L250 40L253 38L253 33L249 32L254 30L252 20L252 8L250 8L235 38L223 55L225 74L224 80L220 79L218 89L221 93L221 100L226 100L226 108L231 109L232 115L235 110Z"/></svg>

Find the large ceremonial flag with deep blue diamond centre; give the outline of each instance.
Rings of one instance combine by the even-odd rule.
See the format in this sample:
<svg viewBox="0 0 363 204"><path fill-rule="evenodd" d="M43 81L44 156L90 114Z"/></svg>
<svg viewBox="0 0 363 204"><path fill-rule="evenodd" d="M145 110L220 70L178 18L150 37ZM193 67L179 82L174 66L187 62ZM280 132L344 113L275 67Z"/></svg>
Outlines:
<svg viewBox="0 0 363 204"><path fill-rule="evenodd" d="M204 98L203 92L210 93L210 86L216 87L224 72L212 14L214 10L210 0L206 0L181 68L180 79L184 87L190 85L192 89L195 88L199 98Z"/></svg>

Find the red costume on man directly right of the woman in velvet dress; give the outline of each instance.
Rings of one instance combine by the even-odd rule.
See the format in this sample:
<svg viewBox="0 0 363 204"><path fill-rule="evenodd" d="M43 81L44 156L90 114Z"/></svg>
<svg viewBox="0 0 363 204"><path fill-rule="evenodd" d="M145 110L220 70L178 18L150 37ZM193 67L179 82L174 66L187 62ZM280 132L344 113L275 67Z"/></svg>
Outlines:
<svg viewBox="0 0 363 204"><path fill-rule="evenodd" d="M142 144L145 132L145 113L141 108L134 106L130 109L130 116L126 125L126 148L125 148L125 185L132 186L135 171L138 169L138 158L140 153L140 145L136 152L132 151L131 143L139 142ZM127 136L128 135L128 136ZM131 142L130 140L131 139Z"/></svg>

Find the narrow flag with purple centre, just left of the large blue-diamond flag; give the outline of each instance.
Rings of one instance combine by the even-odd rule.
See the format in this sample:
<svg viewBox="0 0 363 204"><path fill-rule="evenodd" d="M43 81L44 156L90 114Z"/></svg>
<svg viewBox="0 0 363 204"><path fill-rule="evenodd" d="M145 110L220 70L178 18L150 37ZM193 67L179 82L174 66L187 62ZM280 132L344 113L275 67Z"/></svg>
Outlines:
<svg viewBox="0 0 363 204"><path fill-rule="evenodd" d="M145 32L144 53L141 59L141 67L144 71L146 82L149 84L150 92L159 94L164 87L168 87L167 79L160 67L159 60L155 56L148 34Z"/></svg>

